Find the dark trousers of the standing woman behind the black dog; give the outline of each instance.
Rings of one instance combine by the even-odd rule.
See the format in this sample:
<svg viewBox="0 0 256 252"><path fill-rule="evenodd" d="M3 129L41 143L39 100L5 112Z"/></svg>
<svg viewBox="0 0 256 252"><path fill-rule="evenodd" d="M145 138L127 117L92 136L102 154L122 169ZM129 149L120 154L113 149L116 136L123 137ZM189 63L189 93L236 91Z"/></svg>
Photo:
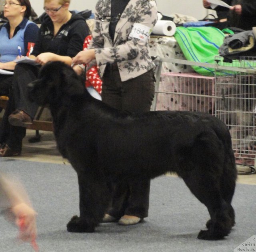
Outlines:
<svg viewBox="0 0 256 252"><path fill-rule="evenodd" d="M154 98L153 70L122 82L116 64L107 66L102 84L102 101L120 110L147 112ZM112 185L112 201L107 212L116 218L124 214L148 216L150 180Z"/></svg>

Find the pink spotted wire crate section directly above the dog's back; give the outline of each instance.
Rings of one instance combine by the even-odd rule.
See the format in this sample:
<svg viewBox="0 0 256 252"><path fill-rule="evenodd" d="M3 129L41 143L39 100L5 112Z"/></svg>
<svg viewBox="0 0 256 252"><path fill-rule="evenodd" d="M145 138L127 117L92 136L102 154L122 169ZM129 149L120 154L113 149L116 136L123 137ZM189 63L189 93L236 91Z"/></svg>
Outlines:
<svg viewBox="0 0 256 252"><path fill-rule="evenodd" d="M155 110L213 113L214 77L196 73L162 73Z"/></svg>

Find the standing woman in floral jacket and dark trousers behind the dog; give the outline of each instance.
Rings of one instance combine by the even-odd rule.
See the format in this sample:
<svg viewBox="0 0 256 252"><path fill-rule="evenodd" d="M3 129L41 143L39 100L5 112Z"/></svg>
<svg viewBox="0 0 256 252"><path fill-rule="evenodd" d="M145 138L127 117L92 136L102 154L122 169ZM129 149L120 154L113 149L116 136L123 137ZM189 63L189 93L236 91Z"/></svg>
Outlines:
<svg viewBox="0 0 256 252"><path fill-rule="evenodd" d="M95 64L96 60L103 81L102 101L111 107L131 112L150 110L154 64L149 36L156 21L154 0L98 0L92 41L73 63ZM103 222L142 222L148 216L149 190L149 180L114 183L112 205Z"/></svg>

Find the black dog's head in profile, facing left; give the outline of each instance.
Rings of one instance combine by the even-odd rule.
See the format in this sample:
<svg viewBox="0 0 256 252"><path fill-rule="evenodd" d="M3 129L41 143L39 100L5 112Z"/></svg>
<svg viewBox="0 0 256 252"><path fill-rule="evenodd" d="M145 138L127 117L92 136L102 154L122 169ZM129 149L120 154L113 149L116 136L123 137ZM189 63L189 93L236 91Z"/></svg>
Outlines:
<svg viewBox="0 0 256 252"><path fill-rule="evenodd" d="M84 94L82 78L67 64L54 61L42 66L38 79L28 84L30 100L40 106Z"/></svg>

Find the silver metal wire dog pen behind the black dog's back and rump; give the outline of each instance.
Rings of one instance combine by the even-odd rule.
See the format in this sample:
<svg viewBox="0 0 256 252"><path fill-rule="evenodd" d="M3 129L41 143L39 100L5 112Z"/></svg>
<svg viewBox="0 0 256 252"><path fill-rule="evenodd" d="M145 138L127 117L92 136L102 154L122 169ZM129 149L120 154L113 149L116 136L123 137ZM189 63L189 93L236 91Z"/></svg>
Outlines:
<svg viewBox="0 0 256 252"><path fill-rule="evenodd" d="M161 72L161 61L214 68L215 76ZM159 63L160 62L160 63ZM256 58L231 64L160 58L155 62L156 93L152 110L207 112L222 120L232 137L238 172L256 172Z"/></svg>

